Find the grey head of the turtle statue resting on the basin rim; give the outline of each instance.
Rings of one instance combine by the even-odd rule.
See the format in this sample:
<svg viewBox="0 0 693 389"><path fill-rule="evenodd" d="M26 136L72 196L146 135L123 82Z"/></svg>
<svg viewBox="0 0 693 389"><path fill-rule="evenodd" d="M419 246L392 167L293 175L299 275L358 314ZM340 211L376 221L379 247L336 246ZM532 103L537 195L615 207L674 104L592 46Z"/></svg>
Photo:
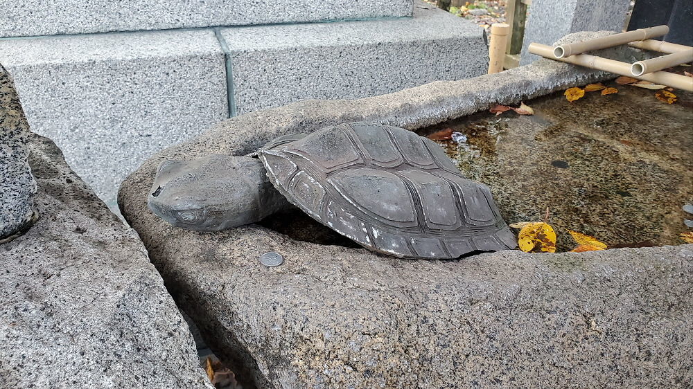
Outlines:
<svg viewBox="0 0 693 389"><path fill-rule="evenodd" d="M148 196L149 208L186 230L218 231L261 216L265 168L257 159L213 154L195 161L164 161Z"/></svg>

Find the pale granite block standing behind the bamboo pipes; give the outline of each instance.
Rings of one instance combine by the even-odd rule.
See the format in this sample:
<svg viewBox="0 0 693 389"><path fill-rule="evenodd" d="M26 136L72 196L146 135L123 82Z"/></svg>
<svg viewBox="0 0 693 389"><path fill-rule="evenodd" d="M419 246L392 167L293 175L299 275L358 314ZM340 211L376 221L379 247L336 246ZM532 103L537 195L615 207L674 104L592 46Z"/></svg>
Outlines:
<svg viewBox="0 0 693 389"><path fill-rule="evenodd" d="M616 31L626 21L630 0L534 0L529 7L520 65L539 59L527 52L530 43L554 44L577 31Z"/></svg>

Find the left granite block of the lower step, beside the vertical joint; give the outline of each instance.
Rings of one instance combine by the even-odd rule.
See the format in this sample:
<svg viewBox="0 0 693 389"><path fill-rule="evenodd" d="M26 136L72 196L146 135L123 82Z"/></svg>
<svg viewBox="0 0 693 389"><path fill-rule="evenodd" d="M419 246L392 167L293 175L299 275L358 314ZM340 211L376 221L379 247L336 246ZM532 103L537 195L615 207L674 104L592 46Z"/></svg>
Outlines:
<svg viewBox="0 0 693 389"><path fill-rule="evenodd" d="M0 39L34 132L102 199L151 154L228 116L211 30Z"/></svg>

